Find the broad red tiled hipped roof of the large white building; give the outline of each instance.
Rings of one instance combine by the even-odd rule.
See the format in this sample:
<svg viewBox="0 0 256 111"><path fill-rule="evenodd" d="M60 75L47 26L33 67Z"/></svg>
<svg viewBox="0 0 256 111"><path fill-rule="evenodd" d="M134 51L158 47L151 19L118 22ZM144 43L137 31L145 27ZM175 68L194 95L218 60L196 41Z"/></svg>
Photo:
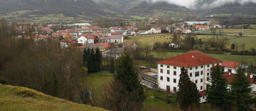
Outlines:
<svg viewBox="0 0 256 111"><path fill-rule="evenodd" d="M202 61L199 60L199 56L202 56ZM221 60L211 58L209 56L198 54L198 53L185 53L176 57L168 58L165 60L158 61L158 64L167 64L180 67L194 67L198 65L221 63Z"/></svg>

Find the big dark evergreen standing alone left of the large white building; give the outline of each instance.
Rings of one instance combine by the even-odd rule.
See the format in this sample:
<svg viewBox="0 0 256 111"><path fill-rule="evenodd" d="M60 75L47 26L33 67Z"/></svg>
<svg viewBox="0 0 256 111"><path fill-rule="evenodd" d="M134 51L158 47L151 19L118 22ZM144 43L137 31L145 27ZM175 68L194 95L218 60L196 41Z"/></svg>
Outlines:
<svg viewBox="0 0 256 111"><path fill-rule="evenodd" d="M113 84L122 84L119 97L126 97L126 95L136 94L132 97L136 97L135 101L137 104L142 105L143 101L145 100L144 90L138 78L138 71L136 70L134 62L128 52L121 54L119 60L116 61L115 70L116 74L113 76Z"/></svg>

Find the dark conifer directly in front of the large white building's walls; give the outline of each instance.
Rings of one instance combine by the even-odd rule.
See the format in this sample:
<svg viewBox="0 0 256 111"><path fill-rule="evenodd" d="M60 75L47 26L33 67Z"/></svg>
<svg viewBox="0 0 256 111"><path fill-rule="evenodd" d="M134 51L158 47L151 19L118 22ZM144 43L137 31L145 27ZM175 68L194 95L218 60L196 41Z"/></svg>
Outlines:
<svg viewBox="0 0 256 111"><path fill-rule="evenodd" d="M180 80L178 83L177 100L181 110L196 109L200 104L200 95L197 86L190 81L187 70L181 68Z"/></svg>

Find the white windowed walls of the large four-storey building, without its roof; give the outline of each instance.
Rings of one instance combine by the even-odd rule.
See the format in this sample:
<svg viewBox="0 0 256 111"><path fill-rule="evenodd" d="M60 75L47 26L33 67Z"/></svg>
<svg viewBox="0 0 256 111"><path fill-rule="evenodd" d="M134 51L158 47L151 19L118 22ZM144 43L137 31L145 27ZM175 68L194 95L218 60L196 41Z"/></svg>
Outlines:
<svg viewBox="0 0 256 111"><path fill-rule="evenodd" d="M219 63L221 65L221 63ZM206 89L206 84L210 84L210 68L217 63L214 64L205 64L194 67L186 68L188 71L188 76L190 80L196 83L197 89L199 91L204 91ZM166 65L166 64L158 64L158 83L159 87L165 91L167 88L170 91L176 92L178 91L178 82L180 80L179 74L181 74L180 66ZM167 72L170 72L169 74ZM175 74L176 73L176 74ZM169 79L169 81L167 81ZM203 99L203 97L201 97ZM205 101L206 97L204 97L201 102Z"/></svg>

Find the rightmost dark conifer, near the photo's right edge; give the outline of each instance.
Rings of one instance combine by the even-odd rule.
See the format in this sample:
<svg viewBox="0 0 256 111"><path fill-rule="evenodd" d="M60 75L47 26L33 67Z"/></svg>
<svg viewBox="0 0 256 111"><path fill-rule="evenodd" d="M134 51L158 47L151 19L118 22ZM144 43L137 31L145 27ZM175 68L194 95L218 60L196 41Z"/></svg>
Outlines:
<svg viewBox="0 0 256 111"><path fill-rule="evenodd" d="M230 83L231 92L237 111L249 111L250 104L252 102L252 96L250 92L252 91L251 84L247 77L244 75L244 70L239 67L236 70L237 74L234 75L233 81Z"/></svg>

